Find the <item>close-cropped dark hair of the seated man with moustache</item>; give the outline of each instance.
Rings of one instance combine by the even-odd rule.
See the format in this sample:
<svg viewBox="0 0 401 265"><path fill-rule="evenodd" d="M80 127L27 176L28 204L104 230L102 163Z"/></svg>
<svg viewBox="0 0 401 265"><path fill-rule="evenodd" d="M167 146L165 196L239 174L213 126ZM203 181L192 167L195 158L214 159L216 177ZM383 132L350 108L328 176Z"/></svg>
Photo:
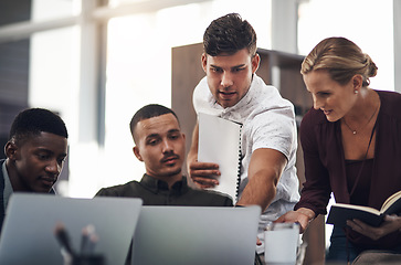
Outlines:
<svg viewBox="0 0 401 265"><path fill-rule="evenodd" d="M149 104L149 105L141 107L138 112L136 112L129 123L130 134L134 137L134 141L136 142L134 131L135 131L137 124L140 120L149 119L152 117L158 117L158 116L161 116L165 114L172 114L177 118L177 121L178 121L178 117L177 117L176 113L172 112L171 108L161 106L159 104Z"/></svg>

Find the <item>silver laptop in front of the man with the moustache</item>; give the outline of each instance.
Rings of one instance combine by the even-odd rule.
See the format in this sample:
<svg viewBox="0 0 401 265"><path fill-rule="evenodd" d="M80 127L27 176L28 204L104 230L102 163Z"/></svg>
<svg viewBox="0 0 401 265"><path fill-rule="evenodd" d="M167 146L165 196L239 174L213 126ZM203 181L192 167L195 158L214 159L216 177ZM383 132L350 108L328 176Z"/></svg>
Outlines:
<svg viewBox="0 0 401 265"><path fill-rule="evenodd" d="M253 264L260 214L258 206L143 206L131 264Z"/></svg>

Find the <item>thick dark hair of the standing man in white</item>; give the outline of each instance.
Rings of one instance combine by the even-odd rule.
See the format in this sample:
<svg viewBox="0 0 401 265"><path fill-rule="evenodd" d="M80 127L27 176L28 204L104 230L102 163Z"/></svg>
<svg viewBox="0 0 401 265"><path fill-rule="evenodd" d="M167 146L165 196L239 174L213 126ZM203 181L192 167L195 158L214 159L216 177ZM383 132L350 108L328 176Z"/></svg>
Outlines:
<svg viewBox="0 0 401 265"><path fill-rule="evenodd" d="M256 54L256 33L238 13L213 20L204 31L203 50L211 56L222 53L232 55L244 47L252 56Z"/></svg>

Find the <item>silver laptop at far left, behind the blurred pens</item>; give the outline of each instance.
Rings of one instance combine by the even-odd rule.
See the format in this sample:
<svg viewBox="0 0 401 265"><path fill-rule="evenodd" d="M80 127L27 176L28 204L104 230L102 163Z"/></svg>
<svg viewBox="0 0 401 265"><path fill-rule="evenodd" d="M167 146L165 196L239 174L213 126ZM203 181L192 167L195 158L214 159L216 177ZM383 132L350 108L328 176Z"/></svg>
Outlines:
<svg viewBox="0 0 401 265"><path fill-rule="evenodd" d="M98 235L94 253L103 254L106 264L123 265L141 204L140 199L14 193L0 236L0 264L64 264L53 233L56 223L62 222L77 252L82 229L93 224Z"/></svg>

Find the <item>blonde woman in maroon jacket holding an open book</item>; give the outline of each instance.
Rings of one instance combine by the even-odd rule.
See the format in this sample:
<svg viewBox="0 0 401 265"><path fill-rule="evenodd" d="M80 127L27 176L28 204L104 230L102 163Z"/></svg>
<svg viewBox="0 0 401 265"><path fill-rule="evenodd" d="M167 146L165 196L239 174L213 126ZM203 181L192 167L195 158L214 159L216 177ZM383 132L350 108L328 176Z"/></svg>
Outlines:
<svg viewBox="0 0 401 265"><path fill-rule="evenodd" d="M302 64L314 107L300 125L306 182L294 211L277 222L299 222L302 231L336 202L380 209L401 190L401 95L374 91L378 67L345 38L318 43ZM390 87L382 87L390 89ZM348 220L334 227L326 261L351 262L366 250L401 252L401 218L379 227Z"/></svg>

